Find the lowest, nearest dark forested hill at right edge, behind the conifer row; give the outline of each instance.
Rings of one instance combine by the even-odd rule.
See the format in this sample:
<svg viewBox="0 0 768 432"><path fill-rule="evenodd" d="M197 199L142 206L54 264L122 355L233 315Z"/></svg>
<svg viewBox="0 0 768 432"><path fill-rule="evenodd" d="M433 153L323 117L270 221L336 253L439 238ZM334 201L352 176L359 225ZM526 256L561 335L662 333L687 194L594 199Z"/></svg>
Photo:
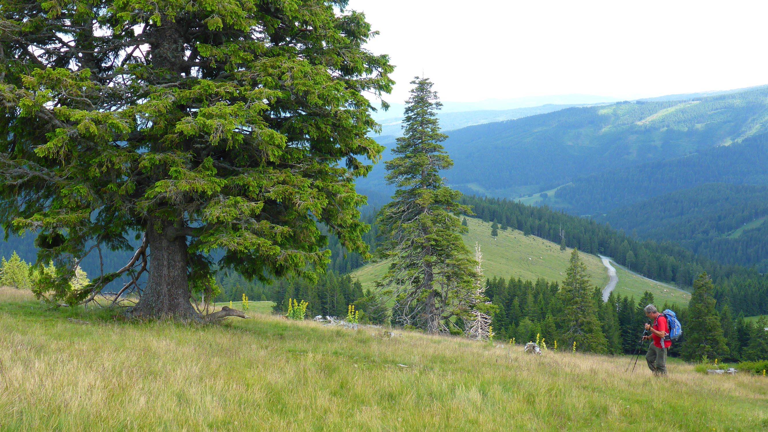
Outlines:
<svg viewBox="0 0 768 432"><path fill-rule="evenodd" d="M627 232L670 240L723 264L768 272L768 186L709 183L597 216Z"/></svg>

